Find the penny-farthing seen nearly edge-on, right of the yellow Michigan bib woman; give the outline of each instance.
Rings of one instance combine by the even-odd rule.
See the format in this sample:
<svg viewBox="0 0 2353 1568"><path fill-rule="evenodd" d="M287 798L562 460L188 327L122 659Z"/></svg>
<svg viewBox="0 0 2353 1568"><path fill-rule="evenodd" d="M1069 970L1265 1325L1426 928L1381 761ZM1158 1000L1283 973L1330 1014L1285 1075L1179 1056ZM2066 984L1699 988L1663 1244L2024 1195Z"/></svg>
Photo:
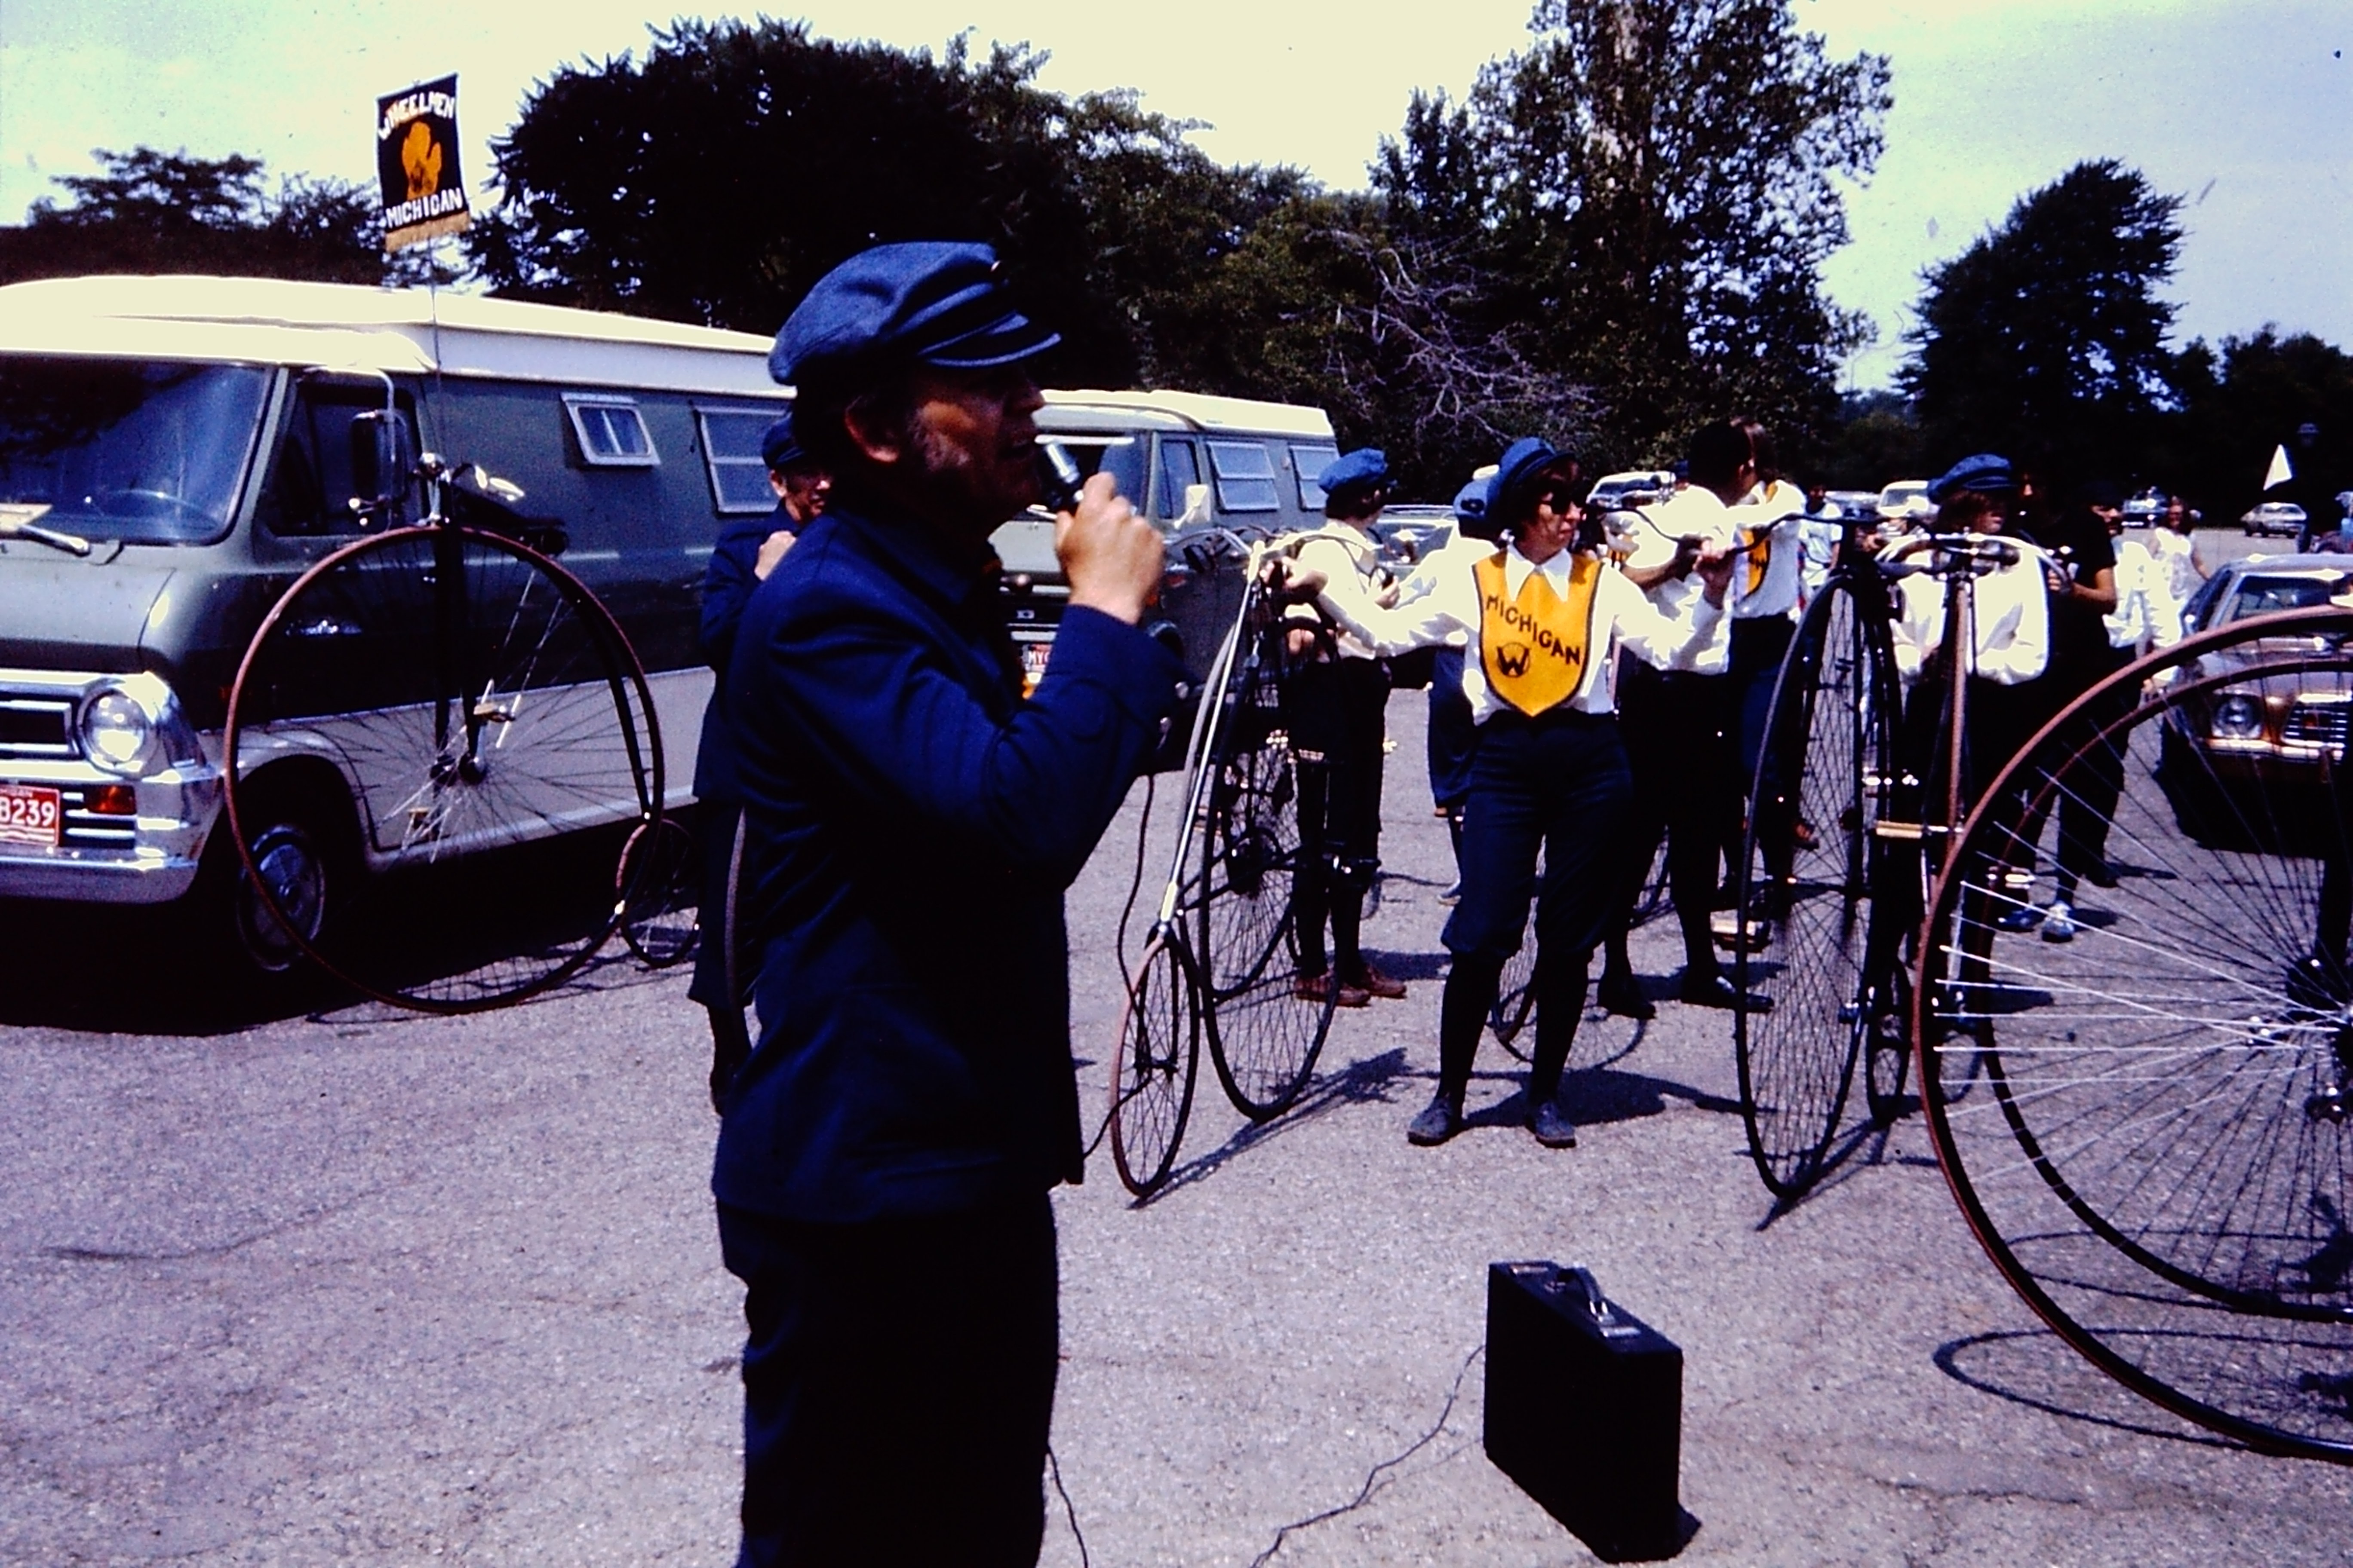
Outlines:
<svg viewBox="0 0 2353 1568"><path fill-rule="evenodd" d="M1941 646L1960 649L1974 637L1977 581L2017 559L2014 543L1981 534L1922 536L1899 559L1880 559L1849 524L1784 658L1734 879L1734 985L1769 1009L1741 1006L1732 1018L1748 1152L1779 1199L1821 1175L1857 1065L1873 1121L1901 1112L1906 959L1927 907L1927 870L1967 799L1967 661L1934 661L1941 686L1913 693L1915 705L1934 705L1934 726L1913 738L1918 755L1901 755L1889 578L1941 578Z"/></svg>

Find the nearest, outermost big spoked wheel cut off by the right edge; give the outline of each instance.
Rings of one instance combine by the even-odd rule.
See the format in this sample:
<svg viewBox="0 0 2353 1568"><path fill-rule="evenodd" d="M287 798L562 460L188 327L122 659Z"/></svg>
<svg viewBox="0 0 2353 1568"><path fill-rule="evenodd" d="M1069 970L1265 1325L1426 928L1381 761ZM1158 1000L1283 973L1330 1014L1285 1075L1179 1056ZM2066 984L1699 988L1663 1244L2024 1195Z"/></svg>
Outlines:
<svg viewBox="0 0 2353 1568"><path fill-rule="evenodd" d="M2344 611L2242 621L2085 693L1972 816L1937 886L1951 936L1918 978L1937 1154L2009 1284L2158 1403L2337 1460L2348 639ZM2104 818L2118 886L2078 889L2068 940L2005 929L2028 875L2089 863Z"/></svg>

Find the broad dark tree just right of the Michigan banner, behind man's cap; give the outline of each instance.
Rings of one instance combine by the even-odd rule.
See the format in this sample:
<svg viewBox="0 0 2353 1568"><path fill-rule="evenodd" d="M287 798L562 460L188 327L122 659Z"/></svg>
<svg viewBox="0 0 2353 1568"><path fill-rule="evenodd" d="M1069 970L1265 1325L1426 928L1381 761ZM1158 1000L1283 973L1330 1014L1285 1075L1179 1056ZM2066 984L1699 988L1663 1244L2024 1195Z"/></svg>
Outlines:
<svg viewBox="0 0 2353 1568"><path fill-rule="evenodd" d="M826 270L887 240L986 240L1052 306L1078 376L1125 383L1089 214L1042 54L941 59L798 21L678 21L645 59L567 66L492 143L504 200L468 235L501 292L774 331ZM1148 134L1146 134L1148 136Z"/></svg>

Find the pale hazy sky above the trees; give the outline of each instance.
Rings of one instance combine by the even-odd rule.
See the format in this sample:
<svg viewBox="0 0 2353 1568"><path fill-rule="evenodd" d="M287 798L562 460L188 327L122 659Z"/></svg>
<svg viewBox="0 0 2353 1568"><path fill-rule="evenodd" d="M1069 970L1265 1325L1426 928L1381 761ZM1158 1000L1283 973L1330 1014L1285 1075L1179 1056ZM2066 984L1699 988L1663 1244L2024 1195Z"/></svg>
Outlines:
<svg viewBox="0 0 2353 1568"><path fill-rule="evenodd" d="M374 179L374 99L459 73L466 176L562 63L645 49L649 0L0 0L0 219L94 169L92 148L252 153L273 174ZM706 12L729 14L729 12ZM1028 40L1056 92L1136 87L1207 120L1226 162L1287 162L1360 188L1414 87L1461 94L1525 40L1525 0L1381 12L1332 0L819 0L812 28L939 49ZM1386 21L1395 16L1398 21ZM1958 254L2028 188L2120 158L2188 197L2179 339L2264 322L2353 348L2353 2L1798 0L1833 54L1894 56L1887 153L1849 195L1854 242L1826 268L1880 343L1882 386L1920 268Z"/></svg>

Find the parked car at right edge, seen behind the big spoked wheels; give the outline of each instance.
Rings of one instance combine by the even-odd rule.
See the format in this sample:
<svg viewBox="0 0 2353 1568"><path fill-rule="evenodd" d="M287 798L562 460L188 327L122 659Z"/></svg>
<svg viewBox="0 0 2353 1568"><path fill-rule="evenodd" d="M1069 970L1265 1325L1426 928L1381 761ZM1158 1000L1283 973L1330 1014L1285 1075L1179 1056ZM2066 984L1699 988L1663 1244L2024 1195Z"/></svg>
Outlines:
<svg viewBox="0 0 2353 1568"><path fill-rule="evenodd" d="M2315 609L2353 595L2344 555L2273 555L2221 564L2191 599L2188 630ZM2334 670L2254 675L2297 654L2332 654L2334 637L2261 637L2186 663L2191 693L2160 731L2158 783L2186 835L2219 849L2318 853L2341 832L2327 771L2346 757L2353 682Z"/></svg>

